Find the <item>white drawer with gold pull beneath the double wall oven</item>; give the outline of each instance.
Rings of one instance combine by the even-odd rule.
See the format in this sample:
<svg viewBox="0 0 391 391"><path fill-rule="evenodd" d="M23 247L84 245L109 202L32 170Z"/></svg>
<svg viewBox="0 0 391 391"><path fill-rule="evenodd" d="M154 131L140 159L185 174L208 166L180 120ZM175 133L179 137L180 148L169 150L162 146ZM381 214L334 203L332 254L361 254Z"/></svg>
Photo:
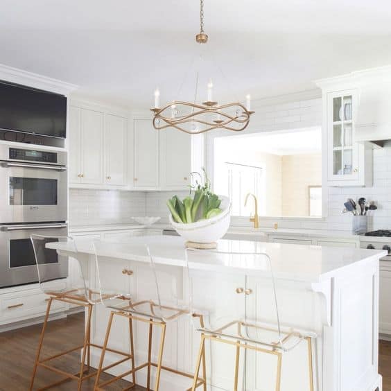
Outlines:
<svg viewBox="0 0 391 391"><path fill-rule="evenodd" d="M35 290L31 292L26 290L19 293L10 293L0 297L0 319L17 319L17 318L29 318L32 316L44 315L46 312L48 296ZM51 311L61 311L67 309L67 304L53 301Z"/></svg>

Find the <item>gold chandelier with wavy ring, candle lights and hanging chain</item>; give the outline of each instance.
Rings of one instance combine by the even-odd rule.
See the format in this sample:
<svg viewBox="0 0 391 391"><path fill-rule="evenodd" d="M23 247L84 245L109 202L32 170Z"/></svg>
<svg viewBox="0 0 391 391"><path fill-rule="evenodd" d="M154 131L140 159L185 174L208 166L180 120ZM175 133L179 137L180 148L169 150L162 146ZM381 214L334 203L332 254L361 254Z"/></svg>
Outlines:
<svg viewBox="0 0 391 391"><path fill-rule="evenodd" d="M204 31L204 0L200 0L200 33L195 35L198 44L206 44L208 35ZM156 130L175 128L189 134L200 134L214 129L232 130L241 132L250 122L251 98L246 96L246 103L226 103L218 105L213 100L213 84L207 85L207 101L196 103L198 93L198 74L195 83L195 100L193 102L173 101L164 107L159 107L160 92L155 90L155 107L153 113L153 127Z"/></svg>

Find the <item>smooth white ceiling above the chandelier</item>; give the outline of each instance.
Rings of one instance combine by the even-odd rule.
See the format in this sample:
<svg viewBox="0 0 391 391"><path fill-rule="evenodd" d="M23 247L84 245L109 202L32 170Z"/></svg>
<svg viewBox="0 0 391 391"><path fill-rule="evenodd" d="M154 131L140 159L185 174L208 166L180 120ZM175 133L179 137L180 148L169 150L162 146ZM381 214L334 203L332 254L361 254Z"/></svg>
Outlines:
<svg viewBox="0 0 391 391"><path fill-rule="evenodd" d="M198 0L0 0L0 7L3 64L137 108L152 104L157 86L162 102L193 95ZM200 98L209 77L216 98L263 98L391 64L390 20L389 0L205 0Z"/></svg>

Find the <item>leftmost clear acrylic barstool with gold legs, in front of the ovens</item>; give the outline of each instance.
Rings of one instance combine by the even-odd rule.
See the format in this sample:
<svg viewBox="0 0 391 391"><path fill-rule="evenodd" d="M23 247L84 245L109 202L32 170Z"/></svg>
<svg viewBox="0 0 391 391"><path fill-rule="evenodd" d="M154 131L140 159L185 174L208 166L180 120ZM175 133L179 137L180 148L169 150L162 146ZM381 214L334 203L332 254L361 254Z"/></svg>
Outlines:
<svg viewBox="0 0 391 391"><path fill-rule="evenodd" d="M92 309L95 304L101 304L101 295L98 292L88 288L88 281L85 279L82 267L78 259L67 257L69 269L73 269L73 279L54 279L53 280L53 269L60 268L60 263L57 262L57 257L64 257L57 254L56 250L46 248L46 243L51 242L61 242L64 243L70 250L72 254L77 254L77 248L75 241L72 238L67 236L42 236L42 235L31 235L31 243L33 245L33 250L35 254L35 263L37 265L37 274L38 281L40 283L40 288L43 293L45 293L48 298L46 299L48 304L46 307L46 315L44 318L44 324L42 326L42 332L40 336L40 342L37 349L37 356L35 358L35 364L33 369L33 376L31 379L30 390L33 390L33 385L35 381L35 375L37 373L37 368L42 367L56 374L62 375L63 379L55 381L49 385L45 385L39 390L48 390L49 388L55 388L56 386L66 382L66 381L77 381L78 390L81 390L82 382L95 376L97 371L89 373L90 367L90 351L91 347L96 347L102 349L102 346L94 345L90 341L91 336L91 317ZM66 257L64 257L66 258ZM64 265L64 263L61 263ZM41 358L42 345L44 342L44 336L46 331L46 326L49 320L49 315L51 311L51 306L54 301L65 302L68 304L73 304L76 306L84 306L86 310L86 322L85 322L85 338L82 345L68 349L67 351L62 351L61 353L49 356L46 358ZM61 345L61 342L60 342ZM57 367L54 367L49 364L49 361L70 354L73 351L82 349L81 361L80 361L80 370L77 373L70 373L64 370L60 370ZM123 354L122 352L115 351L116 354L122 354L125 356L125 360L131 358L130 354ZM86 362L87 361L87 362Z"/></svg>

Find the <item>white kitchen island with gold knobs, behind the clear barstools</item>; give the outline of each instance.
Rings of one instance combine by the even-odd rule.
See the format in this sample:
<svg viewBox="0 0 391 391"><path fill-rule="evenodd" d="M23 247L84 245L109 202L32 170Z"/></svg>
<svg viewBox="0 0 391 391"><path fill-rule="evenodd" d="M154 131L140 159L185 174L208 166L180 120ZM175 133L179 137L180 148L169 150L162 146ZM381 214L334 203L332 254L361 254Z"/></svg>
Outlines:
<svg viewBox="0 0 391 391"><path fill-rule="evenodd" d="M101 270L112 288L135 293L150 289L146 268L149 259L137 245L150 243L155 252L159 279L164 286L186 292L187 274L184 268L184 240L175 236L149 236L130 239L134 251L121 250L116 245L107 256L105 270ZM67 245L49 243L60 253L78 257L89 276L90 287L96 287L95 257L92 241L76 241L78 253ZM290 245L251 241L220 241L218 250L233 252L266 252L272 259L276 278L281 324L314 331L318 338L314 347L315 390L318 391L374 391L381 390L378 372L378 316L379 316L379 258L385 251L311 245ZM204 272L198 281L205 289L205 297L218 297L232 303L232 313L243 311L243 316L257 318L261 312L263 279L251 262L223 262L218 255L207 258L199 254L194 263ZM218 268L221 286L208 284L208 269ZM132 273L123 273L131 270ZM148 288L149 285L149 288ZM247 288L249 295L238 294L236 288ZM227 294L228 292L228 294ZM223 294L224 293L224 294ZM108 318L107 309L96 306L93 314L92 341L102 344ZM154 340L158 341L157 333ZM145 361L148 351L148 326L134 325L136 361ZM128 349L128 324L113 325L110 344L114 349ZM164 365L184 372L193 372L198 352L199 336L191 329L189 317L169 324L164 348ZM157 343L155 343L156 347ZM207 360L213 390L232 390L234 347L213 344L207 348ZM157 349L154 349L156 354ZM92 351L92 365L96 366L100 351ZM242 354L241 390L274 390L274 363L265 354ZM114 360L106 355L107 363ZM136 364L137 364L136 363ZM125 372L127 367L113 370ZM284 354L281 391L309 390L306 345L302 343ZM137 383L146 384L146 372L137 372ZM168 372L162 372L161 390L183 391L190 385Z"/></svg>

